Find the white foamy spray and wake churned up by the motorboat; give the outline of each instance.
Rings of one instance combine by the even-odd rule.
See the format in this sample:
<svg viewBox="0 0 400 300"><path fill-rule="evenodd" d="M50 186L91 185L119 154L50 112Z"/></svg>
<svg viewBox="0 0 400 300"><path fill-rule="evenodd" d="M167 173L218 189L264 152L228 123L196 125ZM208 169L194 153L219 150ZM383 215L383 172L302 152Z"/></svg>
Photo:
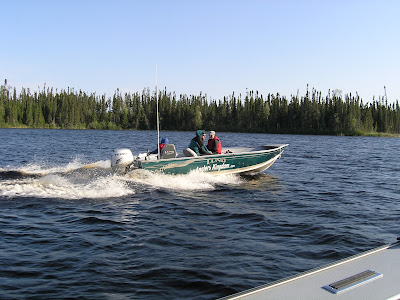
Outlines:
<svg viewBox="0 0 400 300"><path fill-rule="evenodd" d="M106 199L146 193L206 191L242 182L238 176L216 178L210 174L157 174L146 170L115 172L110 160L83 163L79 158L49 166L45 162L28 163L18 168L0 170L0 196L56 199Z"/></svg>

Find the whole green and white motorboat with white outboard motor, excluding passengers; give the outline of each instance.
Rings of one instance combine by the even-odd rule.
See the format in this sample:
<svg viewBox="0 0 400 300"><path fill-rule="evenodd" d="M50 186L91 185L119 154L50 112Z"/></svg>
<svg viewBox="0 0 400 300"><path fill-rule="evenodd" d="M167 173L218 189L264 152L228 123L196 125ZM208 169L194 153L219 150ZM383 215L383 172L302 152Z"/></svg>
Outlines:
<svg viewBox="0 0 400 300"><path fill-rule="evenodd" d="M268 169L288 144L258 147L233 147L222 149L222 154L197 156L191 149L181 153L173 144L167 144L160 155L142 153L137 157L129 149L116 149L111 154L111 166L115 169L144 169L165 174L207 172L220 174L255 174Z"/></svg>

